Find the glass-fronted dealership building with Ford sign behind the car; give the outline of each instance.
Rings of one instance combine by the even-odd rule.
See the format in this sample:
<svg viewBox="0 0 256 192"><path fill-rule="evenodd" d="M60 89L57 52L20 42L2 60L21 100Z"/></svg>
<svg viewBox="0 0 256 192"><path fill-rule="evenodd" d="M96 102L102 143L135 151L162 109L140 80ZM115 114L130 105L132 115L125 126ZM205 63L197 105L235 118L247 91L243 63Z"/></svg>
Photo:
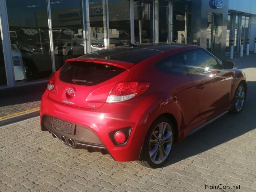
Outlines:
<svg viewBox="0 0 256 192"><path fill-rule="evenodd" d="M256 36L256 0L0 0L0 89L47 82L68 58L137 43L222 59ZM246 46L244 46L244 49Z"/></svg>

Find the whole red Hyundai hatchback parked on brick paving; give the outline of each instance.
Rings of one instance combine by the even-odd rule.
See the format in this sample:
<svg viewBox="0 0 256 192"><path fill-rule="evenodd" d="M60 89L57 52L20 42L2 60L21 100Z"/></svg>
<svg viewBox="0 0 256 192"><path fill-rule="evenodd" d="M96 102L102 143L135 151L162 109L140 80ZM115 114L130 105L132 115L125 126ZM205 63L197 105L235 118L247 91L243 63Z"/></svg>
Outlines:
<svg viewBox="0 0 256 192"><path fill-rule="evenodd" d="M246 97L242 70L195 45L137 44L69 59L41 103L41 129L71 148L160 167L175 141Z"/></svg>

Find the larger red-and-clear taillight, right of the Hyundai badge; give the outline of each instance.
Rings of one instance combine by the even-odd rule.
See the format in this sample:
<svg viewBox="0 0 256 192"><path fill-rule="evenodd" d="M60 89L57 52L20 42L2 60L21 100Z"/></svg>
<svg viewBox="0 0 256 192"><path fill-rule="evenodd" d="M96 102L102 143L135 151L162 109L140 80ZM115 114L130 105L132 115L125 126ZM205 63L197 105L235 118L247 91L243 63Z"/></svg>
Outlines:
<svg viewBox="0 0 256 192"><path fill-rule="evenodd" d="M149 83L145 82L120 82L114 85L108 94L107 103L114 103L132 99L146 92Z"/></svg>

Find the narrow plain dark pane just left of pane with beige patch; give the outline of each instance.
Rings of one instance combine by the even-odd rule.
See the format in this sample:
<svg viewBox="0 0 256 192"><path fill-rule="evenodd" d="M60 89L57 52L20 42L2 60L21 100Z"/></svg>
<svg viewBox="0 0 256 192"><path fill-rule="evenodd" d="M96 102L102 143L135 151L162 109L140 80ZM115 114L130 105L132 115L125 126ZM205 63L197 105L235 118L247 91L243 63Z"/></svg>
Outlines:
<svg viewBox="0 0 256 192"><path fill-rule="evenodd" d="M168 1L159 0L159 42L168 42Z"/></svg>

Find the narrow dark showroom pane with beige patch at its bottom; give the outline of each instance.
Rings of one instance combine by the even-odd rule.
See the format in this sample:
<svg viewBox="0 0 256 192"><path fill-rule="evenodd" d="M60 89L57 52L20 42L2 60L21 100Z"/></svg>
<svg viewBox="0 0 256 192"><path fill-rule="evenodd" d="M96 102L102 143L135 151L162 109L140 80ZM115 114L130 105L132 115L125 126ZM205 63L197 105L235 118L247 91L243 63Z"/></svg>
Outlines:
<svg viewBox="0 0 256 192"><path fill-rule="evenodd" d="M185 4L174 2L173 4L173 41L177 43L186 43L185 31Z"/></svg>

